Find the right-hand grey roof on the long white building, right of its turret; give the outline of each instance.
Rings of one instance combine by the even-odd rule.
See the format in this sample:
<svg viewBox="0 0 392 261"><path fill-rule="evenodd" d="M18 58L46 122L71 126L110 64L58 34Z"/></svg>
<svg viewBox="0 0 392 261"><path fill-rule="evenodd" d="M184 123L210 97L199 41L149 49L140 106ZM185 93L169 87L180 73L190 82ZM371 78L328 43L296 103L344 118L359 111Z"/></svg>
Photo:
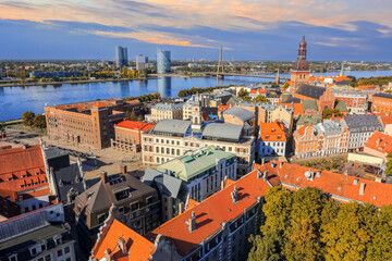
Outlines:
<svg viewBox="0 0 392 261"><path fill-rule="evenodd" d="M203 137L215 138L215 139L230 139L240 140L243 126L228 123L210 123L204 132Z"/></svg>

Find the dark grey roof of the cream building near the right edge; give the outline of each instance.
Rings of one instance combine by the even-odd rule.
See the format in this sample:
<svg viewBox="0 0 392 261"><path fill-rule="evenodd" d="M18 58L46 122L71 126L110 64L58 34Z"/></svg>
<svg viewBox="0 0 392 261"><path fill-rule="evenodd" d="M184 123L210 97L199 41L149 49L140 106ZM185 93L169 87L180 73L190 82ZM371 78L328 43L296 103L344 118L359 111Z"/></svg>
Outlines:
<svg viewBox="0 0 392 261"><path fill-rule="evenodd" d="M351 133L383 132L382 124L376 115L350 115L344 116Z"/></svg>

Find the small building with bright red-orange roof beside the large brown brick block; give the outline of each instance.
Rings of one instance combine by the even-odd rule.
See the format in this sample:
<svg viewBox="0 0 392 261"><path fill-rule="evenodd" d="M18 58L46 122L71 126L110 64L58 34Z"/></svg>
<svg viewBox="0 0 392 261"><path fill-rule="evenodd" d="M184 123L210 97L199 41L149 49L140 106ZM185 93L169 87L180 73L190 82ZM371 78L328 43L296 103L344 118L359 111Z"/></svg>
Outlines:
<svg viewBox="0 0 392 261"><path fill-rule="evenodd" d="M142 133L151 129L155 124L124 120L114 125L114 139L111 146L123 151L139 152Z"/></svg>

